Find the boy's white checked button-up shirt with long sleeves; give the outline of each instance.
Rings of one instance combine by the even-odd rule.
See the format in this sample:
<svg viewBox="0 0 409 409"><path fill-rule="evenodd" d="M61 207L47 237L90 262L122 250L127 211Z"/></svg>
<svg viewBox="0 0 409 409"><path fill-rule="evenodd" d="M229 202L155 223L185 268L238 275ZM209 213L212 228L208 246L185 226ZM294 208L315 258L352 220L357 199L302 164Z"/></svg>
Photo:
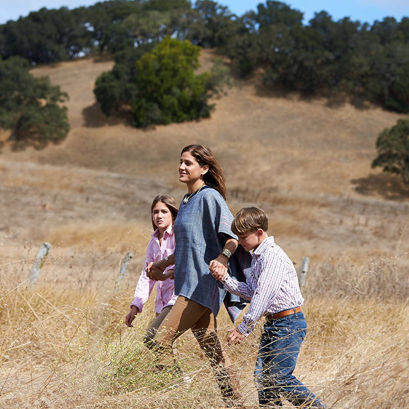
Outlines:
<svg viewBox="0 0 409 409"><path fill-rule="evenodd" d="M222 281L224 288L251 300L238 330L248 335L263 315L276 314L303 305L297 271L283 249L269 236L252 254L252 271L245 283L229 275Z"/></svg>

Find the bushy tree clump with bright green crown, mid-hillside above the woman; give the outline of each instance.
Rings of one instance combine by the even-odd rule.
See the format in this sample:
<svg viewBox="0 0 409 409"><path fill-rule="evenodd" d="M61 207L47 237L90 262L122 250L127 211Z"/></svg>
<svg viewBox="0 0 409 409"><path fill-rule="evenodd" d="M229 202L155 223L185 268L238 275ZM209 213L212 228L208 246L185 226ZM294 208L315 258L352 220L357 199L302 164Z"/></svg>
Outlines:
<svg viewBox="0 0 409 409"><path fill-rule="evenodd" d="M95 82L94 94L101 110L110 116L132 107L136 126L209 116L209 96L226 94L231 87L228 67L216 59L210 73L195 76L199 48L169 38L152 51L154 47L157 44L151 42L115 54L113 69L101 74ZM152 54L145 56L149 52ZM139 62L142 56L143 62ZM158 82L163 83L155 88ZM183 112L170 113L169 104Z"/></svg>

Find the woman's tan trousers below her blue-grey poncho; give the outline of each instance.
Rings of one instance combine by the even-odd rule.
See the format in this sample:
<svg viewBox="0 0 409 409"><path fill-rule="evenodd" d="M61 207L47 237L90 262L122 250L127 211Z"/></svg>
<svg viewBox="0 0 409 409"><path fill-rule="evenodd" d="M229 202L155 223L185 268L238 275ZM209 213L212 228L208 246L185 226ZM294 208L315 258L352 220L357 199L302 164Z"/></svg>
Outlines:
<svg viewBox="0 0 409 409"><path fill-rule="evenodd" d="M191 329L200 348L210 361L220 392L228 400L241 400L238 380L231 361L220 345L217 336L217 322L210 308L179 296L153 340L160 351L171 351L173 341Z"/></svg>

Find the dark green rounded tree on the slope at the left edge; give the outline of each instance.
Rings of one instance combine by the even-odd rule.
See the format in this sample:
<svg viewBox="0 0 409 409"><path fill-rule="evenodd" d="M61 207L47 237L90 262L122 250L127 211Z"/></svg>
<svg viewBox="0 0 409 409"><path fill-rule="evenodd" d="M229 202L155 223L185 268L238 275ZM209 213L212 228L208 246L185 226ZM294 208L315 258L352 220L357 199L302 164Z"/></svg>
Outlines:
<svg viewBox="0 0 409 409"><path fill-rule="evenodd" d="M57 141L70 130L68 99L48 77L34 78L19 57L0 60L0 127L12 129L12 139Z"/></svg>

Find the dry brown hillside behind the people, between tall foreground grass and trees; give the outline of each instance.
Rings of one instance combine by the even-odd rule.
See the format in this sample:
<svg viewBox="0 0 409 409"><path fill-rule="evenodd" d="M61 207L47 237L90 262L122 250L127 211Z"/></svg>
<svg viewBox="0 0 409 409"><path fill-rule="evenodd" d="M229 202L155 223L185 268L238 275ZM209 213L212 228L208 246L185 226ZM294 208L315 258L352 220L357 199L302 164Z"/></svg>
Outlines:
<svg viewBox="0 0 409 409"><path fill-rule="evenodd" d="M212 58L204 53L203 66ZM267 94L253 79L237 81L215 100L210 119L139 130L106 119L96 105L95 79L111 66L82 59L32 71L69 92L71 132L42 150L3 147L3 231L71 243L64 229L73 223L84 235L104 222L142 219L149 226L151 197L184 193L176 177L180 149L202 143L225 169L232 211L243 203L266 208L270 233L294 261L302 255L366 260L396 253L408 223L409 188L370 164L378 133L397 114Z"/></svg>

